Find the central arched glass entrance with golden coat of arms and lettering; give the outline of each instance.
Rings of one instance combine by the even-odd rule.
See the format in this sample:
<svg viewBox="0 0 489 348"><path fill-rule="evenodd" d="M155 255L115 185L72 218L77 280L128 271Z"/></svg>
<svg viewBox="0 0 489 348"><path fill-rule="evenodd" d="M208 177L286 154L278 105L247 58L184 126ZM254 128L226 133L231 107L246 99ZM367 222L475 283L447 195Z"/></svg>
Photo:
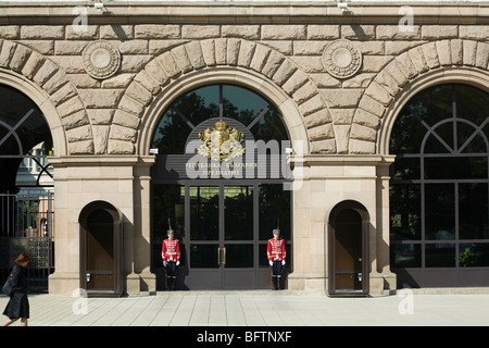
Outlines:
<svg viewBox="0 0 489 348"><path fill-rule="evenodd" d="M156 289L168 219L181 245L177 288L269 288L266 241L277 223L291 256L288 139L277 109L237 85L193 89L166 109L152 142Z"/></svg>

